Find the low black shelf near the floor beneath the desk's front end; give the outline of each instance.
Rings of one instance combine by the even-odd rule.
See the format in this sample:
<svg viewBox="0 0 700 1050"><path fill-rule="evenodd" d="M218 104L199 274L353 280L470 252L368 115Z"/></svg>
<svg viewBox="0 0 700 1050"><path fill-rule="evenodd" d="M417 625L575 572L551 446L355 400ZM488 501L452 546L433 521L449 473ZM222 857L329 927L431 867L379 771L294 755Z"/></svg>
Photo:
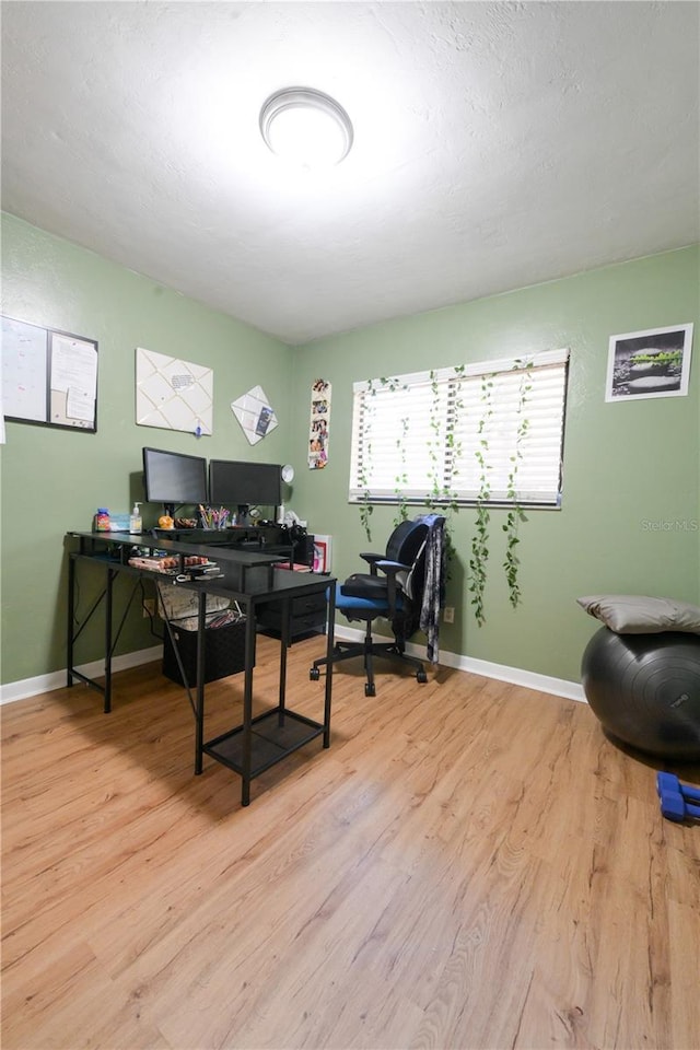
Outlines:
<svg viewBox="0 0 700 1050"><path fill-rule="evenodd" d="M244 773L245 725L222 733L202 745L205 755L215 758L236 773ZM289 709L273 708L250 721L250 778L315 740L325 732L322 722L313 722Z"/></svg>

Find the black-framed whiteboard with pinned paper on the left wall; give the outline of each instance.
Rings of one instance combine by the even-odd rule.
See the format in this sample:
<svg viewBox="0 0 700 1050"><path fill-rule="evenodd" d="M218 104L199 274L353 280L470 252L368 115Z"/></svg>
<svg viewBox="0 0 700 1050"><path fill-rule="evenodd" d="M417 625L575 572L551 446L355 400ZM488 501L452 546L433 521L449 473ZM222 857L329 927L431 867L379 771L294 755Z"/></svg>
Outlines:
<svg viewBox="0 0 700 1050"><path fill-rule="evenodd" d="M97 343L2 317L2 413L69 430L97 430Z"/></svg>

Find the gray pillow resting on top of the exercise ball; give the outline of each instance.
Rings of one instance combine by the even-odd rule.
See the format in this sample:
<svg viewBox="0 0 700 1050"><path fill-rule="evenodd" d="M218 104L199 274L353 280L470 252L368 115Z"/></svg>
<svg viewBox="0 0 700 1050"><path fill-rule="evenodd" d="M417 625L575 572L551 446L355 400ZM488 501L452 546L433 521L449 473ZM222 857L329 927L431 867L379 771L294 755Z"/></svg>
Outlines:
<svg viewBox="0 0 700 1050"><path fill-rule="evenodd" d="M617 634L658 634L686 631L700 634L700 608L673 598L642 594L593 594L576 598L582 609Z"/></svg>

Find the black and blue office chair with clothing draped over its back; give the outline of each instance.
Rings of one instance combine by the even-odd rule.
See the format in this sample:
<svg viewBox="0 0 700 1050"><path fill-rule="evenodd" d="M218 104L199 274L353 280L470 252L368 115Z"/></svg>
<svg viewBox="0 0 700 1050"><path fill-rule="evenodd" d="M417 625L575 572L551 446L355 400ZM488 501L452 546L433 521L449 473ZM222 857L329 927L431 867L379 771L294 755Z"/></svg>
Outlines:
<svg viewBox="0 0 700 1050"><path fill-rule="evenodd" d="M315 660L308 673L318 680L320 667L362 656L366 681L365 697L376 696L375 656L409 666L419 682L428 681L423 662L406 652L406 641L420 627L428 635L428 656L438 661L438 623L444 600L443 555L444 517L427 514L412 522L401 522L392 533L386 553L361 553L370 572L354 573L336 586L336 609L350 621L365 623L361 642L338 641L330 658ZM380 574L382 573L382 575ZM372 623L378 618L390 620L393 642L372 640Z"/></svg>

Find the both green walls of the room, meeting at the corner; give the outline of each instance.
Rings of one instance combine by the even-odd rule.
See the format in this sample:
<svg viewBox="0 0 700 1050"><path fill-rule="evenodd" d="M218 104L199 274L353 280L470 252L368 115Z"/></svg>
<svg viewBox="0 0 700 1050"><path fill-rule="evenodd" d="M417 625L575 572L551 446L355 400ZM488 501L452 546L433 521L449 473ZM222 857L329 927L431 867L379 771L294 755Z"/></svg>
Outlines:
<svg viewBox="0 0 700 1050"><path fill-rule="evenodd" d="M347 502L352 383L558 347L571 349L563 506L533 511L523 525L516 610L500 569L503 512L493 513L482 628L466 591L474 511L459 511L451 526L456 558L447 594L456 618L443 629L442 649L578 680L581 653L596 629L578 595L635 592L700 602L698 361L688 397L604 400L611 334L698 326L698 246L290 349L12 217L3 217L2 234L2 312L100 342L97 434L7 425L2 682L65 667L63 535L89 528L97 505L128 512L140 498L142 445L293 463L289 506L310 529L332 535L334 573L343 576L359 568L360 550L383 547L394 518L392 509L375 510L369 542L358 508ZM213 436L135 424L138 346L213 368ZM310 471L310 392L318 376L332 384L330 452L324 470ZM252 447L229 406L257 384L280 424ZM86 587L81 600L89 597ZM154 642L137 610L119 651ZM81 658L95 658L100 645L88 637Z"/></svg>

